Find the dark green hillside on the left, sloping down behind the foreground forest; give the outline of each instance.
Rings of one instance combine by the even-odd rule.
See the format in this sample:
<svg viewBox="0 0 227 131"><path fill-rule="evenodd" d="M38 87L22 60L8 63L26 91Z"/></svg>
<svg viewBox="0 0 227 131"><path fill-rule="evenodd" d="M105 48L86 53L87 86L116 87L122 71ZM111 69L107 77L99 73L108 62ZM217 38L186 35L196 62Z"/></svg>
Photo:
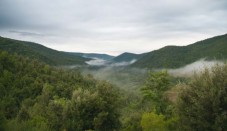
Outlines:
<svg viewBox="0 0 227 131"><path fill-rule="evenodd" d="M0 50L38 59L49 65L85 65L90 59L53 50L43 45L0 37Z"/></svg>

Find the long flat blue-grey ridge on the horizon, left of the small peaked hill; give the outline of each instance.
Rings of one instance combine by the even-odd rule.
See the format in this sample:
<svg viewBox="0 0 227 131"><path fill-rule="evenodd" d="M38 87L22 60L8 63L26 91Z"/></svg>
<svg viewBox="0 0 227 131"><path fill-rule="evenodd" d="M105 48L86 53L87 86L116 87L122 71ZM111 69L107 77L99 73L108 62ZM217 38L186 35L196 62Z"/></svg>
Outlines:
<svg viewBox="0 0 227 131"><path fill-rule="evenodd" d="M77 53L77 52L69 52L69 54L73 54L76 56L82 56L85 58L98 58L103 60L111 60L114 58L114 56L108 55L108 54L98 54L98 53Z"/></svg>

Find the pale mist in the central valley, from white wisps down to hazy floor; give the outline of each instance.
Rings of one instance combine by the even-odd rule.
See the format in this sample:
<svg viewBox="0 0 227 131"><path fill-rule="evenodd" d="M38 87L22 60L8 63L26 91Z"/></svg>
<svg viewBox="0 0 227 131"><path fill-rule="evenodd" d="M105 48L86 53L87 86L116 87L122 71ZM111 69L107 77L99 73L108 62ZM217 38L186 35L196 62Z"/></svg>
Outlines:
<svg viewBox="0 0 227 131"><path fill-rule="evenodd" d="M110 62L94 59L87 62L89 66L82 69L82 73L85 75L91 74L96 79L106 80L122 89L136 90L142 86L146 79L147 70L130 68L128 65L134 62L136 62L136 59L129 62Z"/></svg>

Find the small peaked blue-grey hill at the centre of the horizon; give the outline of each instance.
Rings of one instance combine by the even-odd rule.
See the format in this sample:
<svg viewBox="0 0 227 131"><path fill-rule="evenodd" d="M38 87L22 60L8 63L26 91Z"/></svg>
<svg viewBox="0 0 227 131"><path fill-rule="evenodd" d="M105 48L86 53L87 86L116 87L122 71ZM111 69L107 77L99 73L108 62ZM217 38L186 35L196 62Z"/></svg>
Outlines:
<svg viewBox="0 0 227 131"><path fill-rule="evenodd" d="M112 59L113 62L130 62L132 60L137 60L140 57L142 57L144 54L133 54L125 52L123 54L120 54L119 56L116 56Z"/></svg>

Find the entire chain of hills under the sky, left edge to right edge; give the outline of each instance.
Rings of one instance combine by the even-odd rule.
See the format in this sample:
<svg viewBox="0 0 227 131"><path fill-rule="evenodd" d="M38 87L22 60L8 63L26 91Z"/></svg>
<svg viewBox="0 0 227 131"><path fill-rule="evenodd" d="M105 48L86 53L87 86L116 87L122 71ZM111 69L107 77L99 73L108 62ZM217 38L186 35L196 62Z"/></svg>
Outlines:
<svg viewBox="0 0 227 131"><path fill-rule="evenodd" d="M125 52L116 57L99 53L57 51L41 44L0 36L0 50L41 60L50 65L86 65L86 61L101 58L112 63L130 62L138 68L179 68L199 59L226 60L227 34L204 39L187 46L169 45L158 50L135 54Z"/></svg>

